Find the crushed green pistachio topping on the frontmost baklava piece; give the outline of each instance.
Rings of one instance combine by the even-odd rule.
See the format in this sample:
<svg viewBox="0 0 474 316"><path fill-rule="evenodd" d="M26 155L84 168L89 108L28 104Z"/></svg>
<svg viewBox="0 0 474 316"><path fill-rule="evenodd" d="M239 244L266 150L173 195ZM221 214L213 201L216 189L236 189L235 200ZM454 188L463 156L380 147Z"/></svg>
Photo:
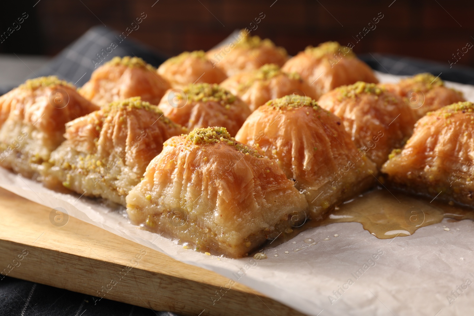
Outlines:
<svg viewBox="0 0 474 316"><path fill-rule="evenodd" d="M217 144L222 142L234 146L241 153L249 154L256 158L263 158L257 150L237 142L234 137L230 136L225 127L194 128L188 135L183 136L186 136L186 141L195 145Z"/></svg>

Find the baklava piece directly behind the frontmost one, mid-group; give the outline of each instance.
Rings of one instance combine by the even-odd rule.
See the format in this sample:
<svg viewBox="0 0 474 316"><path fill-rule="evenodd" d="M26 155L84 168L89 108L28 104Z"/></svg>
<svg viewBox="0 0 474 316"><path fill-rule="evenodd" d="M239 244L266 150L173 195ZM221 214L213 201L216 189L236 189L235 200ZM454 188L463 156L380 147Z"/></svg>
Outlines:
<svg viewBox="0 0 474 316"><path fill-rule="evenodd" d="M217 84L196 83L168 90L159 104L164 115L173 122L188 127L222 126L230 135L250 115L247 104Z"/></svg>

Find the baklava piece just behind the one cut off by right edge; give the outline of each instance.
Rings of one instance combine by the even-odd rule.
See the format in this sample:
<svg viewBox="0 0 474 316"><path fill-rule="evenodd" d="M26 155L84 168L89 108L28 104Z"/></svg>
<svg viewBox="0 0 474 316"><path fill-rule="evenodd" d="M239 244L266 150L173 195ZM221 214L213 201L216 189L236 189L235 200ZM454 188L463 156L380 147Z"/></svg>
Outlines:
<svg viewBox="0 0 474 316"><path fill-rule="evenodd" d="M444 82L430 73L419 73L416 76L402 79L398 84L381 84L385 89L400 95L421 118L430 111L465 101L463 93L447 88Z"/></svg>

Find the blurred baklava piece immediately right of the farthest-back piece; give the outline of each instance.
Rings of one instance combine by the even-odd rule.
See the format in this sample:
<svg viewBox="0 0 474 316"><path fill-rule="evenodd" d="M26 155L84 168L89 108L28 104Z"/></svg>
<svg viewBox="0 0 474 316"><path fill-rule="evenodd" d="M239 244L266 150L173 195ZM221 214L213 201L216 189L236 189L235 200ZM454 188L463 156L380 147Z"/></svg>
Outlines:
<svg viewBox="0 0 474 316"><path fill-rule="evenodd" d="M372 69L346 46L326 42L308 46L288 60L285 72L298 72L319 94L356 81L378 82Z"/></svg>

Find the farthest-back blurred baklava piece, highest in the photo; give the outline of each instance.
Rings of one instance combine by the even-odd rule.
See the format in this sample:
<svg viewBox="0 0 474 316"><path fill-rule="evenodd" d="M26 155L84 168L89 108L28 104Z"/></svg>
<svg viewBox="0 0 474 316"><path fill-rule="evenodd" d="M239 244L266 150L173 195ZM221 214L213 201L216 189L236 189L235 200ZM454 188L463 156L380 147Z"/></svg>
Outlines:
<svg viewBox="0 0 474 316"><path fill-rule="evenodd" d="M214 66L222 69L228 77L243 71L259 69L266 63L278 66L288 60L283 47L277 47L268 39L250 36L242 30L234 43L207 52Z"/></svg>

